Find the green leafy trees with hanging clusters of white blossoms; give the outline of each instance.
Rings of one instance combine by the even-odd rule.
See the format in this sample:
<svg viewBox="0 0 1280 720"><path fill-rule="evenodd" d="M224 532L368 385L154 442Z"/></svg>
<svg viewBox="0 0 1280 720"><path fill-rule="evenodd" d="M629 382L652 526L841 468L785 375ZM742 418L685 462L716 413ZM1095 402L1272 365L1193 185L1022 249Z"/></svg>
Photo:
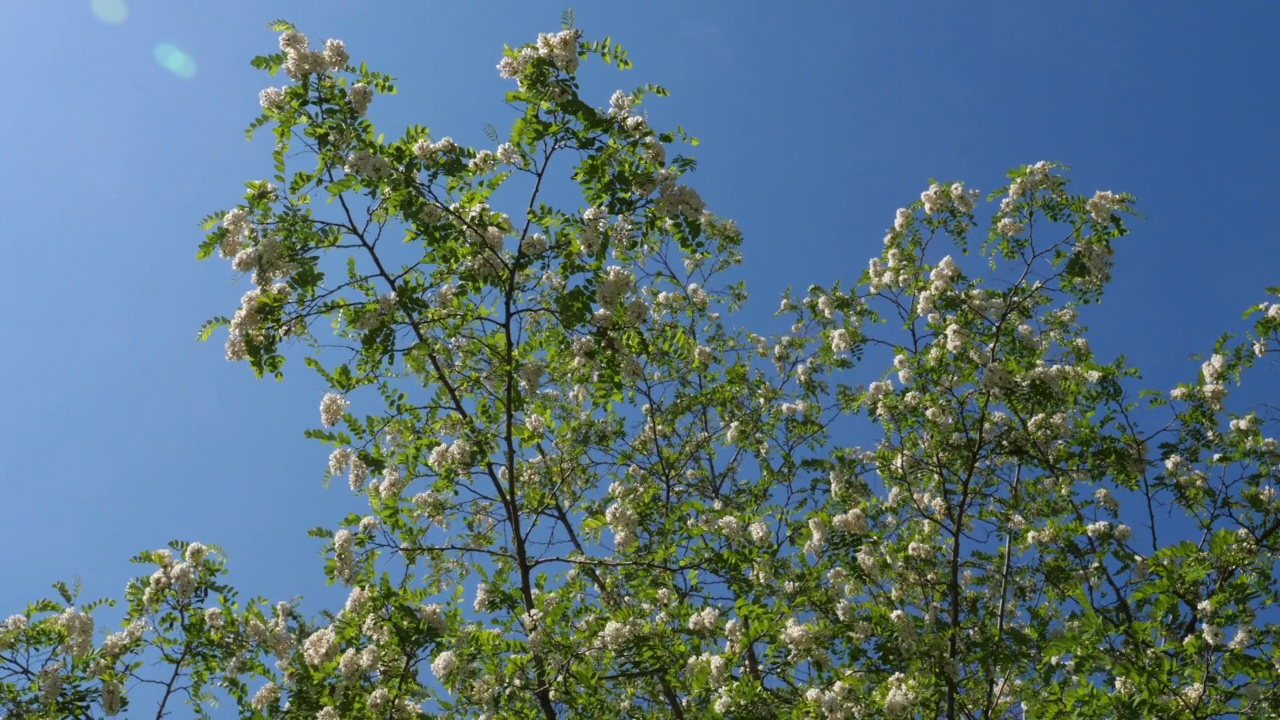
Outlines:
<svg viewBox="0 0 1280 720"><path fill-rule="evenodd" d="M1280 455L1228 411L1280 304L1135 396L1076 316L1129 196L1037 163L979 231L933 183L764 337L727 324L741 237L668 158L692 140L636 110L664 91L580 96L581 59L628 65L609 40L508 47L516 119L475 150L384 141L392 79L273 27L276 176L200 249L252 287L202 337L329 384L310 434L367 507L316 533L348 600L306 618L215 547L143 552L101 642L65 585L0 625L10 717L1280 716Z"/></svg>

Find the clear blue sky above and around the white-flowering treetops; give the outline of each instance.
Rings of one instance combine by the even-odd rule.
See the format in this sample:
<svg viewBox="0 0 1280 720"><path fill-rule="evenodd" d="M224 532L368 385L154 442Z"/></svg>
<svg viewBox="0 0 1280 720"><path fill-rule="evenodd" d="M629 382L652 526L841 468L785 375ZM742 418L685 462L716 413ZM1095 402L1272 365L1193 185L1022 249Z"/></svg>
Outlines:
<svg viewBox="0 0 1280 720"><path fill-rule="evenodd" d="M399 78L371 117L485 143L509 119L503 44L558 27L563 4L8 0L0 47L0 616L56 579L122 596L127 560L173 538L221 544L250 596L316 598L321 541L358 503L321 487L320 382L223 360L200 323L230 314L225 263L195 260L198 219L269 176L244 141L248 65L287 18ZM856 279L893 210L933 177L991 190L1059 160L1074 187L1128 191L1146 219L1119 249L1100 360L1149 383L1280 284L1280 4L580 1L588 37L636 69L593 85L666 86L652 124L701 140L691 178L746 236L749 318L786 284ZM1268 370L1276 375L1274 366ZM1271 387L1275 387L1272 384ZM319 600L319 598L317 598ZM307 603L316 609L312 602Z"/></svg>

